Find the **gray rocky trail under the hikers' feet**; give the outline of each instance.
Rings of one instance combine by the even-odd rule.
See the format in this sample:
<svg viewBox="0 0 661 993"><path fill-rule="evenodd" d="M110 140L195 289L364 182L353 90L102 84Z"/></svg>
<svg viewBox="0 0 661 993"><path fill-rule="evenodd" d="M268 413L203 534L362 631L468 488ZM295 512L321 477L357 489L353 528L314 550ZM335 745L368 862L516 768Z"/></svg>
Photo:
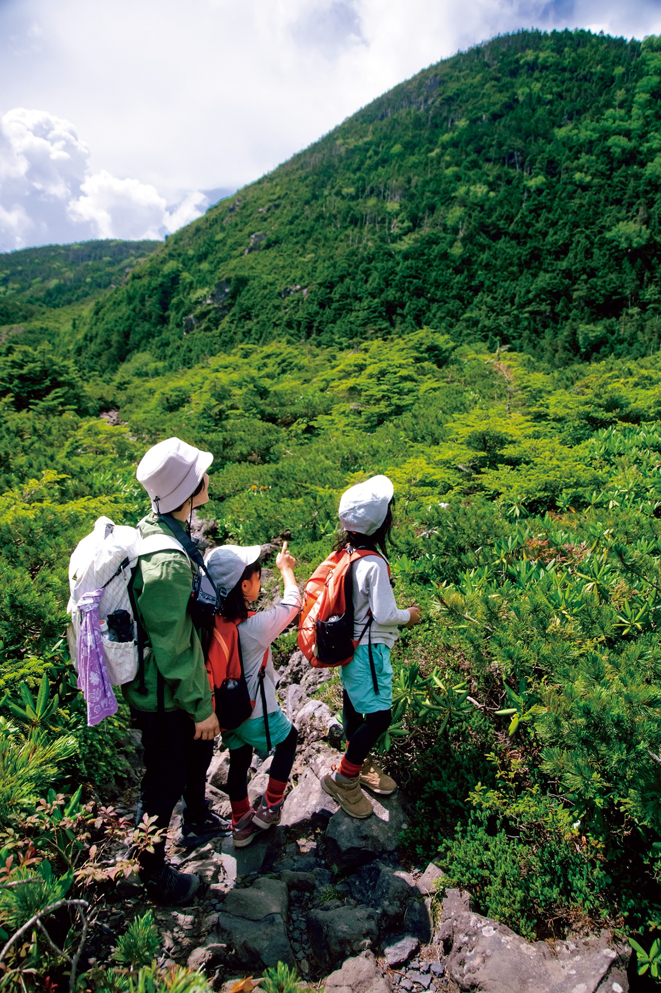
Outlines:
<svg viewBox="0 0 661 993"><path fill-rule="evenodd" d="M190 907L155 908L161 961L203 968L218 989L259 975L278 961L295 966L327 993L623 993L629 986L626 946L600 937L524 940L470 912L467 895L437 889L434 864L405 868L398 842L409 806L396 791L376 799L374 815L355 820L322 789L339 762L341 727L331 708L311 696L330 678L300 652L279 670L278 691L299 729L299 752L281 824L243 849L217 838L193 853L171 843L178 868L207 886ZM268 779L270 759L255 757L252 800ZM229 757L216 751L208 773L214 807L229 814L223 792ZM172 836L179 834L175 823ZM101 924L121 933L148 905L137 881L120 883ZM227 985L229 989L229 985Z"/></svg>

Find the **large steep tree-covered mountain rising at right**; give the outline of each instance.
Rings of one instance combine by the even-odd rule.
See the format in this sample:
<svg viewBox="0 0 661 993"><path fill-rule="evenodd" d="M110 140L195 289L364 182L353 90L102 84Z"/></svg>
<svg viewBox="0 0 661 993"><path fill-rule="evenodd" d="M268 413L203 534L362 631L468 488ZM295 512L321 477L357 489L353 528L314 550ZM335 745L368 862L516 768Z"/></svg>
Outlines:
<svg viewBox="0 0 661 993"><path fill-rule="evenodd" d="M171 237L79 355L428 324L566 363L659 343L661 48L521 32L423 71Z"/></svg>

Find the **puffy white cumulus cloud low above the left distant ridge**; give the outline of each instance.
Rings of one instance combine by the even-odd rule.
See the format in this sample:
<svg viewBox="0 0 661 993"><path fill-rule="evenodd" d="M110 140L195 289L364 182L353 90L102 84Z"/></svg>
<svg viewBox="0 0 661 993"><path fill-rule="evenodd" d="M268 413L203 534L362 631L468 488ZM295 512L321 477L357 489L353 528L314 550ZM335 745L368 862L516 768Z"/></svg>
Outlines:
<svg viewBox="0 0 661 993"><path fill-rule="evenodd" d="M92 173L73 126L16 107L0 118L0 250L87 238L159 238L197 217L203 194L169 209L154 186Z"/></svg>

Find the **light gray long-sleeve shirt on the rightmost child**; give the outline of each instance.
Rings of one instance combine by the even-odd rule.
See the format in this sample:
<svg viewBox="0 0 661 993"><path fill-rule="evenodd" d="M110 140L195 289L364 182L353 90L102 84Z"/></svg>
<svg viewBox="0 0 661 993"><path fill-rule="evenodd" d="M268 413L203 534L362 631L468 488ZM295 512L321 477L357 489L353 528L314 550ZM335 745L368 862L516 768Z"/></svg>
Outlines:
<svg viewBox="0 0 661 993"><path fill-rule="evenodd" d="M353 566L353 638L359 638L371 611L371 638L392 648L399 638L398 627L408 624L408 610L400 611L392 592L388 566L380 555L364 555ZM367 643L365 632L362 643Z"/></svg>

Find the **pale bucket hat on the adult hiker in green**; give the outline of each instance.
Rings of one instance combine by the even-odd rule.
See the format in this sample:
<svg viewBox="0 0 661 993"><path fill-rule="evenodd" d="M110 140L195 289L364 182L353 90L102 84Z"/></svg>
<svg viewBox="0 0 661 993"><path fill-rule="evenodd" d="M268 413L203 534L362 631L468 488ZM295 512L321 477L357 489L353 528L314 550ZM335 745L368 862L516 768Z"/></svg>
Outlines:
<svg viewBox="0 0 661 993"><path fill-rule="evenodd" d="M169 513L193 496L212 462L210 452L200 452L179 438L168 438L149 449L135 475L154 509Z"/></svg>

